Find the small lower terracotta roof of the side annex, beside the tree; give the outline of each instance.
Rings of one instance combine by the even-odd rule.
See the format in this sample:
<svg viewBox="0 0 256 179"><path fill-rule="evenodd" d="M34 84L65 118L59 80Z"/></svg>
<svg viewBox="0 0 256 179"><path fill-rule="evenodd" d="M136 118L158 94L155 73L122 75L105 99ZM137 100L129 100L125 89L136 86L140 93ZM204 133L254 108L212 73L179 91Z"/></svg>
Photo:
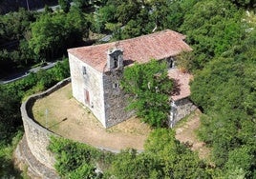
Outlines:
<svg viewBox="0 0 256 179"><path fill-rule="evenodd" d="M175 81L175 87L171 98L176 101L188 97L190 95L189 82L193 76L178 69L168 70L168 75Z"/></svg>

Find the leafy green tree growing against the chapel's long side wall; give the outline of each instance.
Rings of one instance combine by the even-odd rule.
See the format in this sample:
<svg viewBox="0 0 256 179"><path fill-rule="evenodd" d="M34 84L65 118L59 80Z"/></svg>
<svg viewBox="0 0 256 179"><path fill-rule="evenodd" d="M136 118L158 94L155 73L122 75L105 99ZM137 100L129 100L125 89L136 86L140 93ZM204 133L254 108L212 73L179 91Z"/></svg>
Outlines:
<svg viewBox="0 0 256 179"><path fill-rule="evenodd" d="M128 109L135 109L137 115L153 127L164 126L173 87L166 63L151 60L125 69L121 86L131 95Z"/></svg>

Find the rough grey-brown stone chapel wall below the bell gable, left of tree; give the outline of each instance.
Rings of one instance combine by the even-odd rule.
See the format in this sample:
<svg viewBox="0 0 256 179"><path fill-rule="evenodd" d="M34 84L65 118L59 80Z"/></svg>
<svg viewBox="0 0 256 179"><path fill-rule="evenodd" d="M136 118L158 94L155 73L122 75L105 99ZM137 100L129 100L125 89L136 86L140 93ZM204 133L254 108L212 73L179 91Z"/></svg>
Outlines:
<svg viewBox="0 0 256 179"><path fill-rule="evenodd" d="M103 76L107 128L117 125L134 114L133 111L126 110L129 96L120 89L121 76L122 70L110 70Z"/></svg>

